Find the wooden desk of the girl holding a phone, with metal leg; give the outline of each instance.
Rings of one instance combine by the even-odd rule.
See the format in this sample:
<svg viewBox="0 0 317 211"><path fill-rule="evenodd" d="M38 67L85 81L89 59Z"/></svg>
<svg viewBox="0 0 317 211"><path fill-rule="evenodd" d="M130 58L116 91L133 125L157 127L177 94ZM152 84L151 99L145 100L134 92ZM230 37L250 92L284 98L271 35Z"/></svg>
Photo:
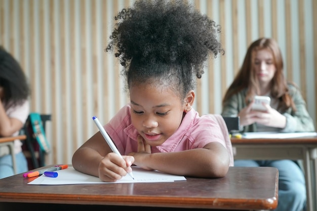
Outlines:
<svg viewBox="0 0 317 211"><path fill-rule="evenodd" d="M288 139L231 138L234 159L302 160L307 191L307 211L317 210L317 137ZM313 171L311 171L311 162ZM314 184L314 186L313 186Z"/></svg>

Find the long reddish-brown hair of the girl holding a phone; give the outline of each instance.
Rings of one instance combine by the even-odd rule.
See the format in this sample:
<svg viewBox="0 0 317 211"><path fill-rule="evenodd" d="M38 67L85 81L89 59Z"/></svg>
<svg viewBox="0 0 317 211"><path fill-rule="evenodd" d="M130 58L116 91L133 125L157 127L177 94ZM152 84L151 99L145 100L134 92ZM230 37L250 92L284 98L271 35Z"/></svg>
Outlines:
<svg viewBox="0 0 317 211"><path fill-rule="evenodd" d="M288 82L284 76L283 58L279 45L274 39L265 37L255 40L248 48L242 67L228 88L222 102L226 102L231 96L243 89L247 89L245 98L247 104L255 95L260 94L259 81L255 74L254 60L257 51L263 49L268 50L272 54L273 63L276 68L270 83L270 94L273 98L279 100L278 109L285 111L292 107L292 109L296 110L288 89L288 83L292 82ZM292 85L296 86L294 83L292 83Z"/></svg>

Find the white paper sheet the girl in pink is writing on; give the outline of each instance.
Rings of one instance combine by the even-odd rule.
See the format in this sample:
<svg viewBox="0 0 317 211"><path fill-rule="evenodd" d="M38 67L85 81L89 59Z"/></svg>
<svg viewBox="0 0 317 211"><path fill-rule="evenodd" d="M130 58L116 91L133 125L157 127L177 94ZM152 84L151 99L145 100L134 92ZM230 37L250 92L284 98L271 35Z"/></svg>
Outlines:
<svg viewBox="0 0 317 211"><path fill-rule="evenodd" d="M134 180L126 175L121 180L111 183L151 183L151 182L174 182L186 180L183 176L169 175L158 171L147 171L137 166L132 166ZM41 175L29 185L70 185L70 184L97 184L102 182L98 177L83 174L76 171L72 166L57 171L58 177L51 178ZM107 182L108 183L108 182Z"/></svg>

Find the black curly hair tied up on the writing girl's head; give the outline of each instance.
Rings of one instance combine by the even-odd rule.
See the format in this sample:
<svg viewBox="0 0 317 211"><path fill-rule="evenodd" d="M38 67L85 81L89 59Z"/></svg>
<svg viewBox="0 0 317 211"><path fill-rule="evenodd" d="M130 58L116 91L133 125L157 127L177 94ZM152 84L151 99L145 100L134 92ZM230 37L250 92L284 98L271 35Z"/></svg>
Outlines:
<svg viewBox="0 0 317 211"><path fill-rule="evenodd" d="M185 97L201 78L210 54L224 53L220 26L185 1L136 1L115 18L106 52L120 58L127 89L141 83L169 85Z"/></svg>

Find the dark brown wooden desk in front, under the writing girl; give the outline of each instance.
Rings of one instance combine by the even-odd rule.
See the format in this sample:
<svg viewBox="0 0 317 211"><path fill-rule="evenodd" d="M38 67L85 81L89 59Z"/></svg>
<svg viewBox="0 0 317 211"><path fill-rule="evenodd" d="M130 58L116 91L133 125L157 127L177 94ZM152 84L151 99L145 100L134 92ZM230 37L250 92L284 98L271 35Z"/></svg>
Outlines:
<svg viewBox="0 0 317 211"><path fill-rule="evenodd" d="M278 203L278 178L274 167L230 167L224 178L167 183L28 185L32 178L19 174L0 180L0 210L273 209Z"/></svg>

